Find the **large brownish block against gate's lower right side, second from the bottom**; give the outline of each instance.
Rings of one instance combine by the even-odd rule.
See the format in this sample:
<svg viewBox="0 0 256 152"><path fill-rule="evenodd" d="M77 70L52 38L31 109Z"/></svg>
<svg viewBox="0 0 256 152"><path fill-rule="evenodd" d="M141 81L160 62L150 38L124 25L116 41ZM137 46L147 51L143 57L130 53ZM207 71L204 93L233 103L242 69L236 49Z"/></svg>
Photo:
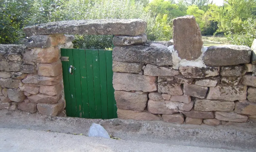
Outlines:
<svg viewBox="0 0 256 152"><path fill-rule="evenodd" d="M146 93L139 95L135 92L115 91L114 95L119 109L143 111L148 101Z"/></svg>

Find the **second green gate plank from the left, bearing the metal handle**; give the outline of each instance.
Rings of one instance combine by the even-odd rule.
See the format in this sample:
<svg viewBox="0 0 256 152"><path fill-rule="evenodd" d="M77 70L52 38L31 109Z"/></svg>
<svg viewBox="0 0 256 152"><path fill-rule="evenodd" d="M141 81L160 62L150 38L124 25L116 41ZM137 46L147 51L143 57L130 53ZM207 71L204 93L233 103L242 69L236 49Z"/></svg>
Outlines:
<svg viewBox="0 0 256 152"><path fill-rule="evenodd" d="M77 117L75 78L74 78L74 74L73 73L71 74L69 72L70 65L73 66L73 53L72 53L72 49L66 49L66 50L67 50L67 56L69 57L69 61L67 62L67 67L68 67L68 78L69 78L72 117Z"/></svg>

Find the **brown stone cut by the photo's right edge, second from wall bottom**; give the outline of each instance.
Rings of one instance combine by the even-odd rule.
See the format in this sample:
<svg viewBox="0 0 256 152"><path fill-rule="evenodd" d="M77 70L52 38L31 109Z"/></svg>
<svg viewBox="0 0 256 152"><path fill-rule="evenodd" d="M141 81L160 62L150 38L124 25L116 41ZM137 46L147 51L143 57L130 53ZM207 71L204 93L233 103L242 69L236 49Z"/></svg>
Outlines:
<svg viewBox="0 0 256 152"><path fill-rule="evenodd" d="M244 115L256 115L256 103L253 102L236 102L235 112Z"/></svg>

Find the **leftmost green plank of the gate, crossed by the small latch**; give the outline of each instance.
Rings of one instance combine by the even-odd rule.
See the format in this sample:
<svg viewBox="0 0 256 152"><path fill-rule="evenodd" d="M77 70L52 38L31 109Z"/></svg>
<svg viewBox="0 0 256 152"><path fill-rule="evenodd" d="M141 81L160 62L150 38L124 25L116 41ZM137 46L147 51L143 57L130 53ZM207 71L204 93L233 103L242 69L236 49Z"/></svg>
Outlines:
<svg viewBox="0 0 256 152"><path fill-rule="evenodd" d="M67 56L67 50L61 49L60 54L63 57ZM70 100L70 91L69 91L69 79L68 79L68 65L67 61L61 61L62 63L62 69L63 69L63 85L64 85L64 95L65 95L65 101L66 101L66 114L68 117L72 116L72 110L71 110L71 100Z"/></svg>

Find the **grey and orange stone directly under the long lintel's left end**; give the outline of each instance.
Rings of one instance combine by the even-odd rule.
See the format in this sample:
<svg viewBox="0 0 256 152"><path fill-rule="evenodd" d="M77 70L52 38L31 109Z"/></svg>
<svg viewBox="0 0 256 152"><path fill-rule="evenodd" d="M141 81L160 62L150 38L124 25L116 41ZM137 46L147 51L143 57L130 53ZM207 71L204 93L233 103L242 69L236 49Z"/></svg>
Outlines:
<svg viewBox="0 0 256 152"><path fill-rule="evenodd" d="M23 40L26 47L47 48L54 47L74 40L73 35L53 34L53 35L33 35Z"/></svg>

